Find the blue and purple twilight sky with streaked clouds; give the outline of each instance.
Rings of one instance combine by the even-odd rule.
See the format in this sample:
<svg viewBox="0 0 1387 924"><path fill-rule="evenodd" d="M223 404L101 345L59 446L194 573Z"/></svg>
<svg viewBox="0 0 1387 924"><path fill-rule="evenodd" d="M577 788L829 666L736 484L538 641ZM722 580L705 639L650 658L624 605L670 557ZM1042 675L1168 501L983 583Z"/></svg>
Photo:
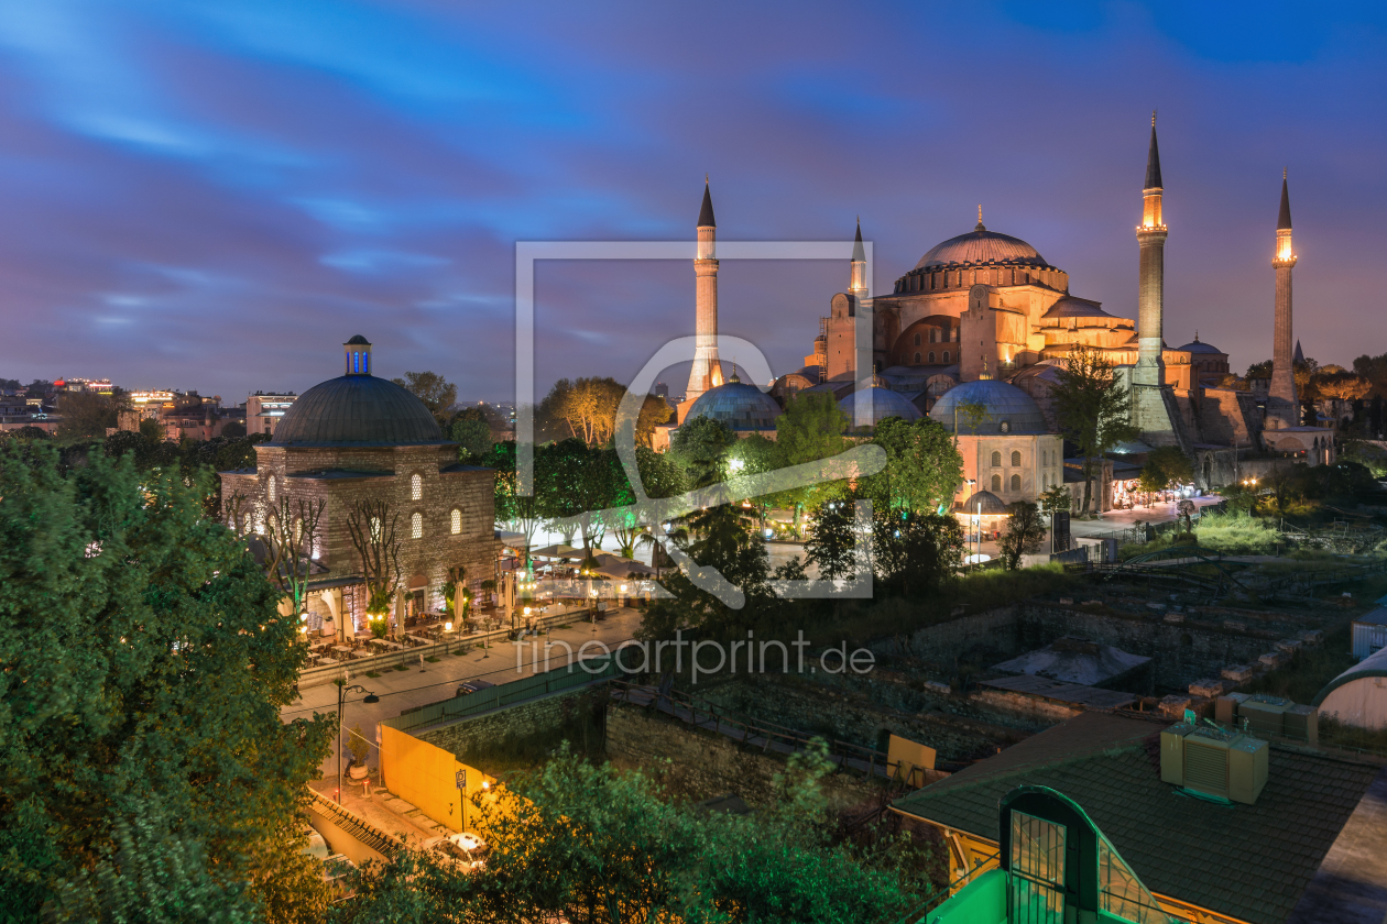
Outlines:
<svg viewBox="0 0 1387 924"><path fill-rule="evenodd" d="M381 374L508 399L515 242L692 240L705 172L721 240L845 240L861 215L877 292L981 202L1135 317L1153 108L1166 342L1270 356L1289 166L1305 353L1387 350L1387 11L1058 10L6 3L0 377L234 405L340 374L365 334ZM724 260L723 332L798 368L846 258ZM545 263L535 310L541 395L627 381L692 334L692 267Z"/></svg>

